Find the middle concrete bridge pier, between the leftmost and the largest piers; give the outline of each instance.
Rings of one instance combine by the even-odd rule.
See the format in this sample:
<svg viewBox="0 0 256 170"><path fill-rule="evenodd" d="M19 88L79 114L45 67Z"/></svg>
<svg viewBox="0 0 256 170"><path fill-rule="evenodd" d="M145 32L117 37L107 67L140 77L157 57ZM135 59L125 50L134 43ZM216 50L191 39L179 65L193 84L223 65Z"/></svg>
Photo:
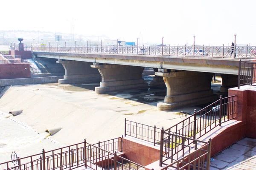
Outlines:
<svg viewBox="0 0 256 170"><path fill-rule="evenodd" d="M148 83L144 82L142 73L144 67L130 65L99 65L94 63L92 68L97 68L102 76L100 86L95 88L95 92L105 94L110 91L119 91L131 88L148 88Z"/></svg>

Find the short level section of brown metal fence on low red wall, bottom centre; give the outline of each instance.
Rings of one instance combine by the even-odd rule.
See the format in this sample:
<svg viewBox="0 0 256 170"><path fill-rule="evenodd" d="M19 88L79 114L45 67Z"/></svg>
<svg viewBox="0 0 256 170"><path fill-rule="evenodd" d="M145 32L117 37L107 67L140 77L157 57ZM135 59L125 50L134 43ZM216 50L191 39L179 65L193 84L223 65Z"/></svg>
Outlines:
<svg viewBox="0 0 256 170"><path fill-rule="evenodd" d="M161 129L148 126L125 118L125 136L133 136L151 143L160 144Z"/></svg>

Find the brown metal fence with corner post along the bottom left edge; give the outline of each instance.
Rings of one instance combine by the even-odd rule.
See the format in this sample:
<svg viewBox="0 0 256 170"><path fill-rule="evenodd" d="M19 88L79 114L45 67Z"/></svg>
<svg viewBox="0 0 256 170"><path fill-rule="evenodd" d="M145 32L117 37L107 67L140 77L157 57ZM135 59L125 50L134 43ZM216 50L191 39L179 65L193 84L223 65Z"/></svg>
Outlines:
<svg viewBox="0 0 256 170"><path fill-rule="evenodd" d="M120 143L120 144L119 144ZM18 158L0 163L2 170L73 170L78 167L90 167L93 170L139 170L142 165L117 155L122 151L122 138L111 139L97 144L84 142L61 147L55 150ZM100 145L97 147L96 145ZM116 144L116 147L106 147ZM109 152L111 150L112 152ZM117 150L118 152L116 152ZM15 164L13 164L15 162Z"/></svg>

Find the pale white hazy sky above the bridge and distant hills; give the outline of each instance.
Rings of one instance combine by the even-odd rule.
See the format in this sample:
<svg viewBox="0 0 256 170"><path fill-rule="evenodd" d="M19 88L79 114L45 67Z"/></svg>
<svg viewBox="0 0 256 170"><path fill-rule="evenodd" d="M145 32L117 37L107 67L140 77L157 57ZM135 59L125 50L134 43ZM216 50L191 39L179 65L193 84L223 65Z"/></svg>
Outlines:
<svg viewBox="0 0 256 170"><path fill-rule="evenodd" d="M0 30L102 34L127 42L256 45L256 0L1 0Z"/></svg>

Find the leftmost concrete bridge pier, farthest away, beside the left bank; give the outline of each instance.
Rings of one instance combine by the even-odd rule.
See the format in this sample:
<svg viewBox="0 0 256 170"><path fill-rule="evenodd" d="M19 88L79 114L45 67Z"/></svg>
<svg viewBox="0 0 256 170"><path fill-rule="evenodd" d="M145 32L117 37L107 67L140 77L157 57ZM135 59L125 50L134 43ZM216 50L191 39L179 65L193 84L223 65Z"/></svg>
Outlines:
<svg viewBox="0 0 256 170"><path fill-rule="evenodd" d="M100 82L99 72L90 67L90 62L81 61L56 61L61 63L65 69L64 79L59 79L60 84L70 84L77 82Z"/></svg>

